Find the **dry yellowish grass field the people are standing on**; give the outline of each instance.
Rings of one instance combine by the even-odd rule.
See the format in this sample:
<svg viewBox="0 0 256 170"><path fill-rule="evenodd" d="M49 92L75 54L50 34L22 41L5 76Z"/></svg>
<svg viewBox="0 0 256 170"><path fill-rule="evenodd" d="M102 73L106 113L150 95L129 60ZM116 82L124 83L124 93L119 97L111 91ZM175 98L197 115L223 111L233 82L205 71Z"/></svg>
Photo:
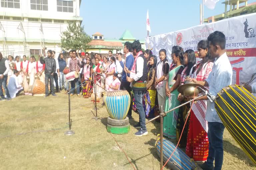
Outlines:
<svg viewBox="0 0 256 170"><path fill-rule="evenodd" d="M128 134L111 135L106 130L108 113L98 106L98 120L90 99L71 97L71 118L74 135L67 136L68 96L18 96L0 102L0 169L51 170L132 170L114 138L137 170L159 170L160 158L155 141L159 123L147 125L148 135L137 137L131 127ZM134 125L139 117L133 113ZM169 169L169 168L165 168ZM224 170L256 169L250 159L224 132Z"/></svg>

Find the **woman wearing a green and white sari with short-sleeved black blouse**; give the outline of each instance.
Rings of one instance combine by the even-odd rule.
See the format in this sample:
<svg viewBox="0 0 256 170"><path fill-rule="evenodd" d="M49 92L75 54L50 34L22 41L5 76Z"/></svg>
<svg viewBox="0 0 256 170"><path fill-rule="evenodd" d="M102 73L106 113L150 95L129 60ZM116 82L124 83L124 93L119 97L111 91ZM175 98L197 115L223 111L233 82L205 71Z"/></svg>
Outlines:
<svg viewBox="0 0 256 170"><path fill-rule="evenodd" d="M179 92L177 88L180 85L180 75L183 71L183 51L182 50L175 50L172 53L172 60L173 64L176 64L171 68L171 71L168 73L168 83L166 83L165 91L166 91L166 100L165 100L165 107L164 111L167 112L172 108L175 108L180 104L178 101ZM176 138L176 125L177 125L177 118L178 118L179 109L175 109L174 111L167 114L164 117L163 122L163 133L165 136L171 139Z"/></svg>

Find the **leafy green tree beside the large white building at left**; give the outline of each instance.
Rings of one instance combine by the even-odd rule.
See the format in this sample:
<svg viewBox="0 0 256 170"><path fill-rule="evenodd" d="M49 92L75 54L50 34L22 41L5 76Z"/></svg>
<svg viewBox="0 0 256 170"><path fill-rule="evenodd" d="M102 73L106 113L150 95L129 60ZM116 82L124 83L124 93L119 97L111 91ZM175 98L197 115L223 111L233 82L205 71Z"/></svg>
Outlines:
<svg viewBox="0 0 256 170"><path fill-rule="evenodd" d="M69 23L67 31L61 33L61 47L64 50L86 49L89 42L91 42L91 38L84 32L84 27L76 25L75 22Z"/></svg>

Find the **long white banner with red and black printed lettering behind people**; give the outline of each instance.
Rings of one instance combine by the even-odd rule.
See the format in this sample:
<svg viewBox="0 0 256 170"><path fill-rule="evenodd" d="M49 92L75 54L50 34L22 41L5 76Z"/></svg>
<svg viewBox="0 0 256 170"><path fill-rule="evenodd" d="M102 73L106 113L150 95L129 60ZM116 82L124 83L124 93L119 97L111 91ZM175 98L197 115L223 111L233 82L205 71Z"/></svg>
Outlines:
<svg viewBox="0 0 256 170"><path fill-rule="evenodd" d="M176 31L174 32L174 43L173 41L170 41L170 43L180 45L184 48L184 51L187 49L197 51L197 43L200 40L207 39L214 31L223 32L226 36L226 52L233 69L232 84L247 82L251 79L252 74L256 72L255 18L256 14L254 13ZM146 47L150 44L153 51L158 52L160 50L159 45L152 42L154 41L153 38L149 37L146 39ZM161 41L163 40L161 39ZM161 44L164 43L168 44L168 42L161 42ZM165 49L171 52L170 48L168 46Z"/></svg>

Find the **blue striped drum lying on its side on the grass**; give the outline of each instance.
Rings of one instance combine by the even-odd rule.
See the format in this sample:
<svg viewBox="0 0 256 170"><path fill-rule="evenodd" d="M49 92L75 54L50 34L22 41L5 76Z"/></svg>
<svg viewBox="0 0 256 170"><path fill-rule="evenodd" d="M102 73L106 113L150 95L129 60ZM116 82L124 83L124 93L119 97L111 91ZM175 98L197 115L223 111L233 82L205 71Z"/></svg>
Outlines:
<svg viewBox="0 0 256 170"><path fill-rule="evenodd" d="M160 138L155 143L157 154L160 156ZM176 145L167 139L163 139L163 161L166 162L171 156ZM167 165L172 170L202 170L193 159L189 158L180 148L177 147Z"/></svg>

